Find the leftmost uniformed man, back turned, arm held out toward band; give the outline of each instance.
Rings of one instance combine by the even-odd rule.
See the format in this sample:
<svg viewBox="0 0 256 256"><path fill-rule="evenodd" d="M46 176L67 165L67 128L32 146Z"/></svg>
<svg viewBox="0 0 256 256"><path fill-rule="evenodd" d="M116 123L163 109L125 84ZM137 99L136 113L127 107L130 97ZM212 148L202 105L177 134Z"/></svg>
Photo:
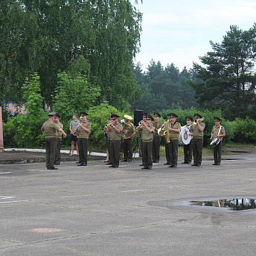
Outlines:
<svg viewBox="0 0 256 256"><path fill-rule="evenodd" d="M48 170L58 170L58 168L54 167L57 132L61 132L64 135L64 138L67 136L63 129L54 123L54 115L56 115L56 112L49 113L48 121L46 121L41 128L42 132L45 134L45 163Z"/></svg>

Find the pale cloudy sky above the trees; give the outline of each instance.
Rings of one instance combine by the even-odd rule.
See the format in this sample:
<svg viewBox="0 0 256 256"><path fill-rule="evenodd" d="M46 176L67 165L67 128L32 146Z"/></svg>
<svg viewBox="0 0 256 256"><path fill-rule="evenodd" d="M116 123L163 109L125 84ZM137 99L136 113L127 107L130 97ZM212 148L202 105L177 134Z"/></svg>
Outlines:
<svg viewBox="0 0 256 256"><path fill-rule="evenodd" d="M135 63L147 70L150 60L180 71L211 51L209 41L222 42L230 25L243 31L256 22L255 0L144 0L135 4L143 13L141 52Z"/></svg>

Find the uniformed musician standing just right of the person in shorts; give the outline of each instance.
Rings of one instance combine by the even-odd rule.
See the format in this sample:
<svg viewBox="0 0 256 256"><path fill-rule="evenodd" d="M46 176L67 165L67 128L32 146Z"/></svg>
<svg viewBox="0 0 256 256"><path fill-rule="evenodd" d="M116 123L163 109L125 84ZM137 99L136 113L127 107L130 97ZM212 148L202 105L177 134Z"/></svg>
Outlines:
<svg viewBox="0 0 256 256"><path fill-rule="evenodd" d="M87 120L87 113L84 111L80 112L81 122L78 124L78 147L79 147L79 164L77 166L87 165L88 156L88 139L91 133L91 123Z"/></svg>

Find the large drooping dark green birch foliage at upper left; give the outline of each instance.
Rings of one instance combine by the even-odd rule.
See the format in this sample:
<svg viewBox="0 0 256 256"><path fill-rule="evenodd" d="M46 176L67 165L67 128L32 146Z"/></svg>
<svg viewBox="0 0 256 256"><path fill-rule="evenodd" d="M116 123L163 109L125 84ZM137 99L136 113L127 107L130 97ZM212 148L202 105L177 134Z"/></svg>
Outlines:
<svg viewBox="0 0 256 256"><path fill-rule="evenodd" d="M86 74L100 86L97 103L127 108L138 95L132 58L140 46L142 14L129 0L2 0L0 102L22 101L25 77L37 72L52 106L57 74ZM80 60L80 63L72 65Z"/></svg>

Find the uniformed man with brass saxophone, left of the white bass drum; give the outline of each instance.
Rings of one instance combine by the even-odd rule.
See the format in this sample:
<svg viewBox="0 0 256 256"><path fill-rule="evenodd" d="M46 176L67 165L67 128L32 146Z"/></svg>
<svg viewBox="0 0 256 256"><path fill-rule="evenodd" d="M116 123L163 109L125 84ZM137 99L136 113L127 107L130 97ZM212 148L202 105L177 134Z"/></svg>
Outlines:
<svg viewBox="0 0 256 256"><path fill-rule="evenodd" d="M176 168L178 164L178 147L179 147L179 132L182 130L181 124L176 122L176 118L178 117L174 113L167 114L168 123L164 122L164 125L169 133L170 142L166 141L170 159L170 166L172 168Z"/></svg>

